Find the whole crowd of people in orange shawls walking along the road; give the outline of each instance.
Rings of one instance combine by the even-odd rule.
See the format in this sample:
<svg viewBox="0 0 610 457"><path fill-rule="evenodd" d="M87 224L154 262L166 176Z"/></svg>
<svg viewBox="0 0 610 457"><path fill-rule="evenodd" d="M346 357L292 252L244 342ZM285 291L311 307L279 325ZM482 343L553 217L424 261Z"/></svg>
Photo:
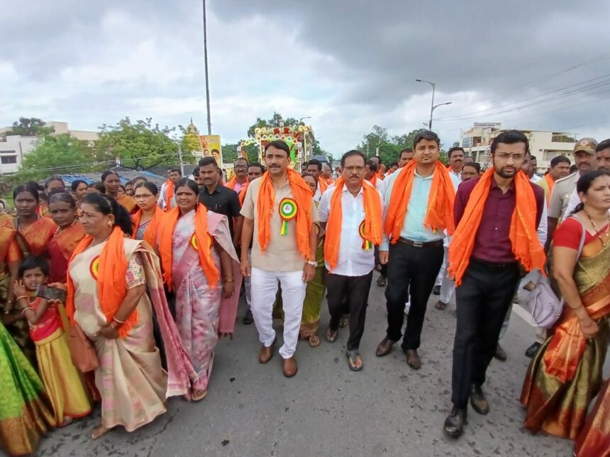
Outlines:
<svg viewBox="0 0 610 457"><path fill-rule="evenodd" d="M238 158L223 182L204 157L192 176L168 171L124 186L115 171L95 184L60 177L14 188L0 212L0 442L35 452L48 430L101 403L98 439L133 431L167 400L206 397L219 337L255 324L258 361L275 355L295 376L299 338L321 344L348 332L345 359L361 371L373 273L385 288L387 331L378 357L401 342L418 370L431 295L438 312L455 295L445 434L459 437L468 404L489 412L483 386L520 288L545 276L562 297L538 329L520 401L524 426L575 441L577 456L610 455L610 140L583 138L570 159L536 173L528 139L501 132L483 170L464 149L439 159L440 140L419 132L388 164L350 150L333 173L312 159L291 167L288 145L265 145L264 165ZM406 327L404 320L406 319ZM425 361L424 361L425 362ZM597 400L596 400L597 397ZM594 405L592 405L594 402Z"/></svg>

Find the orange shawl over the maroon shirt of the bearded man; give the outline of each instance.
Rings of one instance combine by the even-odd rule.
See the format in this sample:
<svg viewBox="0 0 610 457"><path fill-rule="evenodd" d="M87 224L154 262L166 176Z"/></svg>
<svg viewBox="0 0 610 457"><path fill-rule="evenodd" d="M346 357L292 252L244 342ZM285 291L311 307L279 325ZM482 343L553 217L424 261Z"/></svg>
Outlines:
<svg viewBox="0 0 610 457"><path fill-rule="evenodd" d="M490 168L472 189L462 220L457 225L449 245L448 271L455 276L455 286L460 286L462 283L462 276L475 247L475 237L483 217L489 189L492 188L493 177L494 169ZM536 234L536 196L523 171L518 171L515 175L514 186L516 205L509 232L513 254L526 271L533 269L544 271L546 256Z"/></svg>

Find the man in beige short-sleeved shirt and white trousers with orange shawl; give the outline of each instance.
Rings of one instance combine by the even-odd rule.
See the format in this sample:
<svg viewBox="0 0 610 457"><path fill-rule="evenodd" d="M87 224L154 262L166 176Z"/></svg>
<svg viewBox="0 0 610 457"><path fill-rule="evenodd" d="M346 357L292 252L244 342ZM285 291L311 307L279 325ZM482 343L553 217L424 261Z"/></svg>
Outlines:
<svg viewBox="0 0 610 457"><path fill-rule="evenodd" d="M294 351L299 339L305 288L314 278L317 266L315 224L318 222L311 190L300 174L288 168L289 151L282 141L272 141L265 147L268 171L250 183L241 208L244 217L241 271L244 276L250 276L252 314L262 343L258 361L267 363L273 356L277 337L272 327L272 309L279 283L284 308L284 345L279 355L284 359L287 377L296 374ZM260 215L261 208L267 214ZM247 255L250 241L251 268Z"/></svg>

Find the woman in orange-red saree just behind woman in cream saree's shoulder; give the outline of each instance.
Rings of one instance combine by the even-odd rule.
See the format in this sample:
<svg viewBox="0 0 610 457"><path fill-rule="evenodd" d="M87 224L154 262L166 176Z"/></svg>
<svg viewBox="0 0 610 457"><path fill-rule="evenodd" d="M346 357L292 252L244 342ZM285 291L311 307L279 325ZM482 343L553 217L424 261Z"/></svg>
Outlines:
<svg viewBox="0 0 610 457"><path fill-rule="evenodd" d="M49 213L57 225L49 241L50 283L65 283L68 260L84 238L82 224L76 218L77 206L67 192L54 193L49 198Z"/></svg>

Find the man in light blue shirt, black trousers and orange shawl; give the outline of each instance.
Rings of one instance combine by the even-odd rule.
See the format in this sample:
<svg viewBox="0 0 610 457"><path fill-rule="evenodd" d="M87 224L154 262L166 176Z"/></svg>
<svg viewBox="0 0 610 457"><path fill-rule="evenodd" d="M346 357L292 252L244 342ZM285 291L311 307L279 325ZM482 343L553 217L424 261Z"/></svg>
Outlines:
<svg viewBox="0 0 610 457"><path fill-rule="evenodd" d="M379 357L389 354L394 343L403 336L404 304L410 295L409 319L401 348L406 354L406 363L414 370L421 366L417 349L421 342L423 319L444 256L443 228L433 230L424 225L433 180L436 178L442 181L442 189L439 185L433 198L447 198L448 201L443 202L446 208L452 207L450 197L455 196L448 169L437 165L439 147L440 140L436 133L428 130L419 132L414 138L415 165L401 168L388 176L384 183L385 224L389 211L392 211L393 198L401 197L400 192L392 196L394 184L399 178L403 182L404 174L413 174L409 201L400 203L406 204L404 220L401 223L394 220L396 230L399 228L399 239L389 239L389 234L384 230L384 239L379 246L379 261L387 264L385 297L388 327L386 337L377 346L376 354ZM435 176L439 173L440 176ZM392 214L392 217L398 216ZM453 225L453 220L451 224Z"/></svg>

